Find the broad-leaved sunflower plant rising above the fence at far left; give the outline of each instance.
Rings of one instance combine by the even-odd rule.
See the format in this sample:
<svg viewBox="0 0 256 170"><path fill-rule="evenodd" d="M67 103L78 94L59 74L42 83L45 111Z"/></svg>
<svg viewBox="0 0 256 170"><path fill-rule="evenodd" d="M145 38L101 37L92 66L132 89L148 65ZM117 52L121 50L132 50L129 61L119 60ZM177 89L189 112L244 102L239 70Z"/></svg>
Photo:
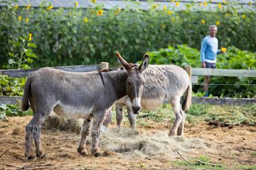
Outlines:
<svg viewBox="0 0 256 170"><path fill-rule="evenodd" d="M31 34L29 35L29 41L31 41ZM9 39L10 52L8 55L8 65L4 68L31 68L29 65L34 62L33 59L37 59L37 55L33 52L32 48L37 46L32 42L27 42L26 38L20 37L19 41L13 41Z"/></svg>

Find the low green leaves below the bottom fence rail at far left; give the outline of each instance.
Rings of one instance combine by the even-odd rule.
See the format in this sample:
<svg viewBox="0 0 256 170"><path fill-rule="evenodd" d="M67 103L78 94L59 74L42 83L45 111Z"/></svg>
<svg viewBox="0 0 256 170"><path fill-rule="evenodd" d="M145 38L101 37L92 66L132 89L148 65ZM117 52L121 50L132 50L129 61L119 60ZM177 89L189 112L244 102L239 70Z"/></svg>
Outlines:
<svg viewBox="0 0 256 170"><path fill-rule="evenodd" d="M0 120L6 120L7 117L25 115L33 115L33 112L30 109L27 111L20 111L20 108L17 104L0 105Z"/></svg>

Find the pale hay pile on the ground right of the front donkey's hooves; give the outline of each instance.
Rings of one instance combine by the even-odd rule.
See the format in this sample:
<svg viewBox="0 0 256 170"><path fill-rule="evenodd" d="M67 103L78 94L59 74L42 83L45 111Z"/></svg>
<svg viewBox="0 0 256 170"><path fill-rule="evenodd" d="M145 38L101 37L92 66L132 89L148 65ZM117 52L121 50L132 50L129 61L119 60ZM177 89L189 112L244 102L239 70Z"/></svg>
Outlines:
<svg viewBox="0 0 256 170"><path fill-rule="evenodd" d="M176 150L192 153L198 149L209 149L209 144L200 138L169 137L168 132L138 133L130 128L109 129L101 135L99 143L102 149L115 151L126 158L175 158Z"/></svg>

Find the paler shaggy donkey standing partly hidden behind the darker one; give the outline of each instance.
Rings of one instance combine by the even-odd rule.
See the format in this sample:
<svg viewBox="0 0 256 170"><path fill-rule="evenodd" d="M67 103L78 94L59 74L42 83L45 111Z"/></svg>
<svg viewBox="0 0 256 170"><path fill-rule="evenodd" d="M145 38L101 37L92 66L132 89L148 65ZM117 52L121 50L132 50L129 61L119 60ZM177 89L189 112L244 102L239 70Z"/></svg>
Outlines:
<svg viewBox="0 0 256 170"><path fill-rule="evenodd" d="M134 67L137 67L134 65ZM170 102L175 112L176 119L170 129L169 136L183 135L186 114L191 104L192 86L189 75L183 68L175 65L151 65L144 71L145 85L141 97L141 107L145 110L152 110L162 105L165 99ZM182 106L181 97L184 97ZM123 106L127 107L127 113L131 129L136 129L136 113L133 113L133 103L125 96L116 102L116 121L120 128L123 121ZM111 115L106 120L111 119ZM108 122L104 122L106 129Z"/></svg>

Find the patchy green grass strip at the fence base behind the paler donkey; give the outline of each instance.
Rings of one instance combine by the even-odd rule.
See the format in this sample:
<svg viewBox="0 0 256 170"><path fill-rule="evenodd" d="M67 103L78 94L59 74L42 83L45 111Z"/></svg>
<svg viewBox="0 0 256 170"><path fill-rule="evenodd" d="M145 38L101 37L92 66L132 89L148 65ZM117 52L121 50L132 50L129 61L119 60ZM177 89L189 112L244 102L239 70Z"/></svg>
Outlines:
<svg viewBox="0 0 256 170"><path fill-rule="evenodd" d="M126 113L126 112L125 112ZM256 104L246 106L215 106L210 104L193 104L186 113L186 121L194 124L198 121L214 121L218 125L256 125ZM114 114L115 115L115 114ZM155 122L166 122L166 124L175 120L170 104L164 104L152 111L141 111L137 115L138 124L148 125L148 120ZM127 118L126 121L127 122Z"/></svg>

